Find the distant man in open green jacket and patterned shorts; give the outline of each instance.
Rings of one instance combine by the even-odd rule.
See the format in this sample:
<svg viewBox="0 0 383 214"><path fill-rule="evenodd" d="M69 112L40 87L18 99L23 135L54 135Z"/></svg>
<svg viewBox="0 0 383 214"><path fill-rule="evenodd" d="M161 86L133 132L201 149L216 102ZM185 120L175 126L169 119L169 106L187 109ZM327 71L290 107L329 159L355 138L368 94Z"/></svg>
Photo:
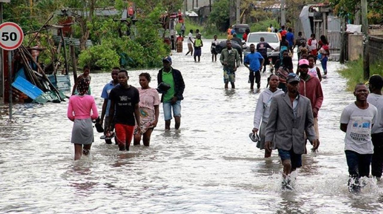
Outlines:
<svg viewBox="0 0 383 214"><path fill-rule="evenodd" d="M222 50L219 60L223 65L223 82L225 83L225 89L228 89L229 82L231 83L231 88L235 88L236 70L241 64L241 59L239 58L238 51L231 47L230 40L226 41L226 46L227 48Z"/></svg>

